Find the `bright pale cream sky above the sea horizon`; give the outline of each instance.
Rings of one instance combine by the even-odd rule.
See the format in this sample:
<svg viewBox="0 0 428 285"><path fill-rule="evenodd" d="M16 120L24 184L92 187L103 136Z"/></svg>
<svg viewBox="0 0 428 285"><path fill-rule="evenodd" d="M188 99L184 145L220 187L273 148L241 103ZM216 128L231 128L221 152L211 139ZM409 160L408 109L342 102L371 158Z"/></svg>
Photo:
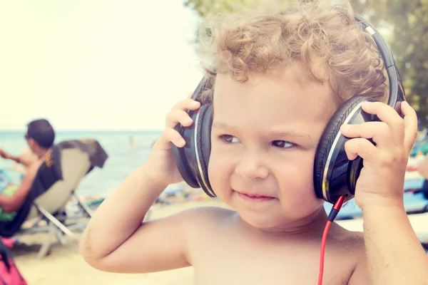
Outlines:
<svg viewBox="0 0 428 285"><path fill-rule="evenodd" d="M161 130L202 74L180 0L0 0L0 130ZM150 7L150 8L149 8Z"/></svg>

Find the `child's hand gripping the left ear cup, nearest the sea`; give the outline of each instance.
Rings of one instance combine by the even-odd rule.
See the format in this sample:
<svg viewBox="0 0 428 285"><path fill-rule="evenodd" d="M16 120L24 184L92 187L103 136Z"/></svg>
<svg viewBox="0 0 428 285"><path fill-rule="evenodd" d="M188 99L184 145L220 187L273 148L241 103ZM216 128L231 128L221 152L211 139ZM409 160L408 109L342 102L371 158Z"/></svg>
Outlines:
<svg viewBox="0 0 428 285"><path fill-rule="evenodd" d="M188 115L187 110L197 110L199 107L198 101L186 98L175 104L166 115L165 130L163 130L161 137L156 140L151 154L143 165L146 177L152 183L166 187L183 180L175 165L173 144L177 147L183 147L185 140L174 127L178 123L184 127L192 125L193 120Z"/></svg>

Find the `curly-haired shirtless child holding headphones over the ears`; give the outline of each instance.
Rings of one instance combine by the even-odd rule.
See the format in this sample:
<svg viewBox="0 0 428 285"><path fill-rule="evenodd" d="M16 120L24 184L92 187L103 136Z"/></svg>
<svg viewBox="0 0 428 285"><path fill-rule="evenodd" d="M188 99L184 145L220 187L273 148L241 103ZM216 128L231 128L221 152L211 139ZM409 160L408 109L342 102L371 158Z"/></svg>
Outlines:
<svg viewBox="0 0 428 285"><path fill-rule="evenodd" d="M196 284L317 282L327 214L314 191L315 151L347 98L386 102L384 67L352 16L317 4L272 10L213 19L204 41L216 70L204 99L214 109L208 175L235 211L200 207L142 223L165 187L182 180L172 145L185 141L174 127L192 125L185 111L200 107L187 98L168 114L148 160L88 224L80 249L88 264L135 273L193 266ZM365 232L331 225L324 284L425 284L427 257L402 201L416 114L407 103L404 120L384 103L363 108L384 123L341 131L355 138L350 160L365 162L355 195Z"/></svg>

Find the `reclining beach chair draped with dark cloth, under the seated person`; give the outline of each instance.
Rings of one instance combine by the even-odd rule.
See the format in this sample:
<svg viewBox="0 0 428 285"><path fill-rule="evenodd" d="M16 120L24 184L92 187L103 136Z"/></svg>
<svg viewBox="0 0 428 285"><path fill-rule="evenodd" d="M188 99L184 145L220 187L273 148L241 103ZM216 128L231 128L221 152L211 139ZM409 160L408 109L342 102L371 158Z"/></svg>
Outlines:
<svg viewBox="0 0 428 285"><path fill-rule="evenodd" d="M87 145L88 143L93 145ZM101 159L95 162L96 147L98 156L101 153ZM93 210L76 195L76 189L83 177L93 170L94 166L102 167L107 155L96 141L64 141L56 145L51 152L52 155L44 162L36 175L33 187L43 188L48 185L41 194L28 198L29 209L21 223L19 230L13 234L19 237L28 234L45 233L46 237L39 250L39 259L46 256L51 244L56 237L61 244L65 244L64 236L78 240L80 234L76 231L82 231L86 227L85 217L92 217ZM49 169L49 170L47 170ZM48 182L46 183L46 178ZM44 181L45 180L45 181ZM41 186L40 186L41 185ZM33 189L30 191L32 192ZM31 196L31 195L29 195ZM66 206L74 202L80 212L70 216L67 214ZM24 204L24 207L26 205Z"/></svg>

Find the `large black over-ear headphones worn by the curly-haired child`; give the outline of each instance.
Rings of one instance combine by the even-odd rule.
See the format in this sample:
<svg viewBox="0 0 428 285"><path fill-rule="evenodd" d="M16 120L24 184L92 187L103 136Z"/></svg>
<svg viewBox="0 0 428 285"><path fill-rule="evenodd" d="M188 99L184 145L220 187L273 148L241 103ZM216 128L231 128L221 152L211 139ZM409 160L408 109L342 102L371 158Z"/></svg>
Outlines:
<svg viewBox="0 0 428 285"><path fill-rule="evenodd" d="M339 11L345 11L337 8ZM345 11L346 12L346 11ZM391 51L370 22L354 14L355 19L362 24L362 28L370 33L382 56L384 67L389 79L388 105L401 115L401 102L405 100L402 79L398 68L394 63ZM198 100L204 90L210 89L212 83L208 78L203 78L195 89L192 97ZM345 195L345 201L352 199L355 195L355 185L362 170L362 158L348 160L345 152L345 138L340 133L343 124L361 124L379 120L377 116L365 113L361 105L365 101L374 101L365 96L355 96L345 101L338 108L330 122L322 133L317 145L314 164L313 182L315 194L318 198L327 202L335 203L339 197ZM201 104L198 110L189 110L188 114L193 120L190 127L184 128L180 124L175 130L185 140L184 147L173 145L175 164L180 171L183 180L193 188L201 187L210 197L216 197L208 179L208 162L211 150L211 125L213 124L213 105Z"/></svg>

